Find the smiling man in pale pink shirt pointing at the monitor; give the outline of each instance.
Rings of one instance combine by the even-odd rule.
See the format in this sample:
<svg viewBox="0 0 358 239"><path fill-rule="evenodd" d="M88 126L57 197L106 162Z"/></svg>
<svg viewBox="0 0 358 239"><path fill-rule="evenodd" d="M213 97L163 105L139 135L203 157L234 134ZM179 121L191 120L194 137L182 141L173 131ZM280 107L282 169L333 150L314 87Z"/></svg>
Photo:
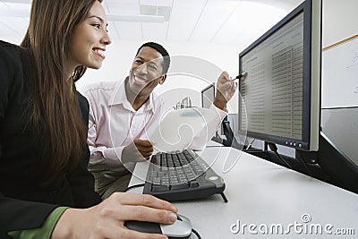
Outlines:
<svg viewBox="0 0 358 239"><path fill-rule="evenodd" d="M169 64L166 49L147 42L138 49L124 82L103 81L81 90L90 102L89 170L95 177L95 190L103 199L113 192L124 191L135 162L149 159L153 152L146 132L157 127L167 111L164 99L153 90L166 81ZM233 97L236 86L227 73L220 75L217 89L223 90L223 94L217 92L215 106L210 109L217 112L215 122L209 123L210 135L226 116L226 103ZM202 149L208 140L194 138L189 148Z"/></svg>

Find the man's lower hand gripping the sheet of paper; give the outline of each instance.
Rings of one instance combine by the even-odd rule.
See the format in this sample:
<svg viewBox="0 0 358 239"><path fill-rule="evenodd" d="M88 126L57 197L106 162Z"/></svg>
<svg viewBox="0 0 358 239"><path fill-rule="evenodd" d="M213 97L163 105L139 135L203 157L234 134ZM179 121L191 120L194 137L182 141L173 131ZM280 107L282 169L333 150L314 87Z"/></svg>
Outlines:
<svg viewBox="0 0 358 239"><path fill-rule="evenodd" d="M153 145L150 141L134 140L122 151L122 163L141 162L148 160L153 153Z"/></svg>

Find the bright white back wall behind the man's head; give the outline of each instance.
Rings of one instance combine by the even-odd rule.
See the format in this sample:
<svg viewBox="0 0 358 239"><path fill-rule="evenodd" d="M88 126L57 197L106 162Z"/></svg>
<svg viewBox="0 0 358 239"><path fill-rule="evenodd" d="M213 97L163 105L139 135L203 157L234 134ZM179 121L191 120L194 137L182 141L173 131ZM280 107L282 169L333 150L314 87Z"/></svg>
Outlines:
<svg viewBox="0 0 358 239"><path fill-rule="evenodd" d="M91 70L77 82L78 86L94 81L122 81L128 75L134 55L141 41L115 41L107 47L107 57L99 70ZM172 58L187 57L189 63L191 57L195 61L205 64L191 64L191 67L200 65L201 73L208 77L198 79L188 75L168 76L163 85L156 89L158 94L164 94L169 104L190 96L192 106L200 106L200 92L209 85L209 82L217 81L218 73L226 71L235 76L238 73L238 55L243 47L213 44L191 44L178 42L158 42L166 47ZM208 66L205 66L208 65ZM237 113L237 97L234 97L229 106L230 113Z"/></svg>

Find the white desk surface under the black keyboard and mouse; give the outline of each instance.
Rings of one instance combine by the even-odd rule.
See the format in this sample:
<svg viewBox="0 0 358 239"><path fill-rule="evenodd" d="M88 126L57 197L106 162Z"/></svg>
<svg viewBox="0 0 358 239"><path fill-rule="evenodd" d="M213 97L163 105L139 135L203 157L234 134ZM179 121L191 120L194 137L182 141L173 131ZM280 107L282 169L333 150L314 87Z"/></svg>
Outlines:
<svg viewBox="0 0 358 239"><path fill-rule="evenodd" d="M236 165L228 173L222 173L225 159L234 162L239 156ZM221 196L214 195L204 200L175 202L175 206L180 214L191 219L192 227L203 239L278 237L276 231L270 233L272 225L290 229L289 234L280 235L280 238L337 238L338 235L328 235L324 231L328 224L333 226L328 226L332 233L338 228L353 228L355 235L345 235L345 238L356 238L358 235L357 194L233 148L207 148L201 152L201 158L213 163L217 174L224 177L229 202L225 203ZM214 158L217 160L214 161ZM136 167L134 175L145 178L145 174L144 164ZM130 184L139 183L141 180L132 176ZM141 192L141 189L138 190ZM309 214L311 222L304 224L303 214ZM251 231L257 232L257 235L253 235L248 226L244 228L244 234L242 230L232 233L230 226L237 220L241 226L256 225ZM297 225L295 233L290 224L303 226ZM266 235L261 233L265 226L268 227ZM300 233L300 228L308 228L308 231ZM322 228L322 235L317 234L320 232L317 228Z"/></svg>

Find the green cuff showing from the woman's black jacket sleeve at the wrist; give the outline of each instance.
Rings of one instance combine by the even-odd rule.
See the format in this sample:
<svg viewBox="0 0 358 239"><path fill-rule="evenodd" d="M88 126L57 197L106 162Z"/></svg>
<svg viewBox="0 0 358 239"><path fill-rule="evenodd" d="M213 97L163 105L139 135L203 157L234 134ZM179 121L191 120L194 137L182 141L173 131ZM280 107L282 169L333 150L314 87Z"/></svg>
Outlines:
<svg viewBox="0 0 358 239"><path fill-rule="evenodd" d="M54 230L58 219L64 213L65 209L68 209L68 207L58 207L55 210L53 210L51 214L47 217L43 226L39 228L13 231L13 232L9 232L8 235L11 236L13 239L35 239L35 238L50 239L52 235L52 231Z"/></svg>

